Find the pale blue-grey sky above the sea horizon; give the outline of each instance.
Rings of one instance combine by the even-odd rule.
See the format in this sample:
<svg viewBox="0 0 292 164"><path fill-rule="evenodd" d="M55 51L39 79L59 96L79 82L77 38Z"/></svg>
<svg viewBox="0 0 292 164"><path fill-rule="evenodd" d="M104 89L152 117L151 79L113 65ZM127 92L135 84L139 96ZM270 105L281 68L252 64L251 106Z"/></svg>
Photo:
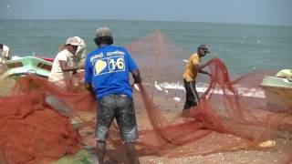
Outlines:
<svg viewBox="0 0 292 164"><path fill-rule="evenodd" d="M0 0L0 19L114 19L292 26L291 8L292 0Z"/></svg>

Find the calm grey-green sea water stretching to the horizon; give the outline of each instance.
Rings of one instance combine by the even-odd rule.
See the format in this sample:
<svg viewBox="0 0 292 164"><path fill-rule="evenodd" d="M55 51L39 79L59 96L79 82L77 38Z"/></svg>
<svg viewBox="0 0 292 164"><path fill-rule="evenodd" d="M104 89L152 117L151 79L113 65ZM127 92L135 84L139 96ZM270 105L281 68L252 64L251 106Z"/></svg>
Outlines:
<svg viewBox="0 0 292 164"><path fill-rule="evenodd" d="M190 55L200 44L210 47L207 61L219 57L231 75L292 68L292 26L117 20L1 20L0 43L13 55L54 57L68 36L80 36L90 52L100 26L109 26L115 45L124 46L160 29ZM182 56L187 59L189 56Z"/></svg>

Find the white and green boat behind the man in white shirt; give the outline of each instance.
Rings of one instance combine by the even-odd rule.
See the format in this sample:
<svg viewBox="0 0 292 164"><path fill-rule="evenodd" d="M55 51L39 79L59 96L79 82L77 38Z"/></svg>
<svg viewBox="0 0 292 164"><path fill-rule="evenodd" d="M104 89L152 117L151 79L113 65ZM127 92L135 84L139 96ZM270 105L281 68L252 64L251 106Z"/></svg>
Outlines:
<svg viewBox="0 0 292 164"><path fill-rule="evenodd" d="M21 76L35 74L40 77L48 77L53 63L36 56L14 57L5 62L9 76Z"/></svg>

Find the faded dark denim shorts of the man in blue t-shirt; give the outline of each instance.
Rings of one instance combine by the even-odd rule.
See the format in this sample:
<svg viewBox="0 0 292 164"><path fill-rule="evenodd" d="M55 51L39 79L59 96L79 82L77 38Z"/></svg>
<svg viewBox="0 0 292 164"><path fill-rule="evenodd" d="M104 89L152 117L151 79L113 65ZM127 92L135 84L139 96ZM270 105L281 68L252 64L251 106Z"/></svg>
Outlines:
<svg viewBox="0 0 292 164"><path fill-rule="evenodd" d="M124 142L136 141L138 128L132 98L127 95L110 94L99 100L96 130L98 140L105 141L108 138L110 125L114 118L118 123L121 139Z"/></svg>

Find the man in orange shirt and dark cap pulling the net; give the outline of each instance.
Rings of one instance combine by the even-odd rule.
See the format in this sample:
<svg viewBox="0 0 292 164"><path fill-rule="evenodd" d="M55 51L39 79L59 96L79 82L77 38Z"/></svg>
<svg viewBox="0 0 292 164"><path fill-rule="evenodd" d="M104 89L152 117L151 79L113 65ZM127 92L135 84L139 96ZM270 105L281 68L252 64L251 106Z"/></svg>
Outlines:
<svg viewBox="0 0 292 164"><path fill-rule="evenodd" d="M210 73L204 71L201 65L201 58L206 54L210 53L209 49L205 45L198 46L198 50L192 56L186 65L186 70L183 74L183 83L185 88L185 103L183 111L185 109L193 108L200 102L200 97L195 88L195 78L198 73L206 74L210 76Z"/></svg>

